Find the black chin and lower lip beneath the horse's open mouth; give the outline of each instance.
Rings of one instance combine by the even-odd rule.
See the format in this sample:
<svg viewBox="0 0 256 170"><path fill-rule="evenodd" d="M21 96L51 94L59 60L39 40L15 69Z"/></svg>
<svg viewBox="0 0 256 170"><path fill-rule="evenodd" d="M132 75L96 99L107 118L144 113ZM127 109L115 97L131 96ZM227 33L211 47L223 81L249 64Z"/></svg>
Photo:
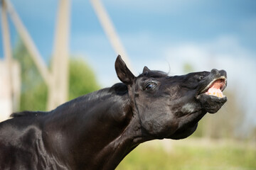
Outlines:
<svg viewBox="0 0 256 170"><path fill-rule="evenodd" d="M228 101L226 96L220 98L218 96L208 94L200 94L198 95L197 99L200 101L203 110L207 111L208 113L216 113L221 106Z"/></svg>

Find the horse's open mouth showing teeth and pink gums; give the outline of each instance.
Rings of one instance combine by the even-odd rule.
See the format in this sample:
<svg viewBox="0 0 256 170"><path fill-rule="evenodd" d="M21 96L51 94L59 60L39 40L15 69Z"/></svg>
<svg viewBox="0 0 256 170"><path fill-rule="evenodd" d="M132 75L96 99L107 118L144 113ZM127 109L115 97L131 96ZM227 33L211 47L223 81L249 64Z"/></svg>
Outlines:
<svg viewBox="0 0 256 170"><path fill-rule="evenodd" d="M208 84L208 86L206 86L206 88L201 91L201 94L224 98L225 95L223 95L223 90L225 89L225 86L225 77L220 77L219 79L214 79L213 81L211 81L210 84Z"/></svg>

